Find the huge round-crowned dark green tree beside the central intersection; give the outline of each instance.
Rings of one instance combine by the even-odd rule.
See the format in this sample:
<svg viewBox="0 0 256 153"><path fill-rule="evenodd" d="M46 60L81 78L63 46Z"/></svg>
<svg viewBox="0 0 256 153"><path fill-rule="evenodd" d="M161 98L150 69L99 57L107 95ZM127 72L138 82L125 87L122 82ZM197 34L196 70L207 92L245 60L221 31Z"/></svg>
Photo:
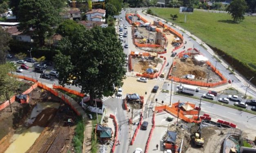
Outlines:
<svg viewBox="0 0 256 153"><path fill-rule="evenodd" d="M125 74L125 54L112 30L96 26L91 30L80 28L60 41L61 53L54 57L59 72L59 83L65 85L68 77L76 77L73 85L93 98L114 94L122 85Z"/></svg>

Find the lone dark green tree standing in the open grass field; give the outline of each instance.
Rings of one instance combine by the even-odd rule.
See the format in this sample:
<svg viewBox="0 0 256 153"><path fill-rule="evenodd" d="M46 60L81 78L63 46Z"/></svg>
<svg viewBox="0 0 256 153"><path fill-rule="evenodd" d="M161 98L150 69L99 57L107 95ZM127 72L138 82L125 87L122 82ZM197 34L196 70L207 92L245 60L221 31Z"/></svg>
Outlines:
<svg viewBox="0 0 256 153"><path fill-rule="evenodd" d="M247 10L247 4L245 0L234 0L227 7L227 11L231 14L233 18L233 22L238 22L240 20L244 20L244 14Z"/></svg>

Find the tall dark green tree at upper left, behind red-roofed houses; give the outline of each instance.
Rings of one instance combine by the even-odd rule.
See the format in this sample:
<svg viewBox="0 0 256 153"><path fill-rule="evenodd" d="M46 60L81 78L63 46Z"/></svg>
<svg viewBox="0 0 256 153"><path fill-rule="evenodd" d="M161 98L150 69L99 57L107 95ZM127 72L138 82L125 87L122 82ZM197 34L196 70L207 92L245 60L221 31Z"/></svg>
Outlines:
<svg viewBox="0 0 256 153"><path fill-rule="evenodd" d="M33 28L33 37L45 44L47 33L58 24L58 12L49 0L21 0L18 7L19 30L29 31Z"/></svg>

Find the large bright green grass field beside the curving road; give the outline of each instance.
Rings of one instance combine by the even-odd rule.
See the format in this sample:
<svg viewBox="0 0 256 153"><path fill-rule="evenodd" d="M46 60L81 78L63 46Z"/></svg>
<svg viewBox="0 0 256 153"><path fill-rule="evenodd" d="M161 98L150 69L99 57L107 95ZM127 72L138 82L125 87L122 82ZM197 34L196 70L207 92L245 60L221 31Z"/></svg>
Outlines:
<svg viewBox="0 0 256 153"><path fill-rule="evenodd" d="M227 13L209 13L194 11L187 15L180 14L178 9L151 8L158 16L185 28L203 42L223 50L233 58L242 61L256 70L256 17L245 17L239 24L232 23ZM171 20L170 13L178 14L176 21Z"/></svg>

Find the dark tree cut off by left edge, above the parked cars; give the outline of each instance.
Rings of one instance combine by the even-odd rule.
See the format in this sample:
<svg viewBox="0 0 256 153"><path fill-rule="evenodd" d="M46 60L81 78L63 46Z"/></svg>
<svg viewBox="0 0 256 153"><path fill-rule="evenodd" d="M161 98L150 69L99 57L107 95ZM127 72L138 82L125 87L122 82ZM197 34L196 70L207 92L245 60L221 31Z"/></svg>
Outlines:
<svg viewBox="0 0 256 153"><path fill-rule="evenodd" d="M0 27L0 64L3 64L6 62L6 55L9 48L9 42L11 40L11 37L9 33L4 31L3 28Z"/></svg>

